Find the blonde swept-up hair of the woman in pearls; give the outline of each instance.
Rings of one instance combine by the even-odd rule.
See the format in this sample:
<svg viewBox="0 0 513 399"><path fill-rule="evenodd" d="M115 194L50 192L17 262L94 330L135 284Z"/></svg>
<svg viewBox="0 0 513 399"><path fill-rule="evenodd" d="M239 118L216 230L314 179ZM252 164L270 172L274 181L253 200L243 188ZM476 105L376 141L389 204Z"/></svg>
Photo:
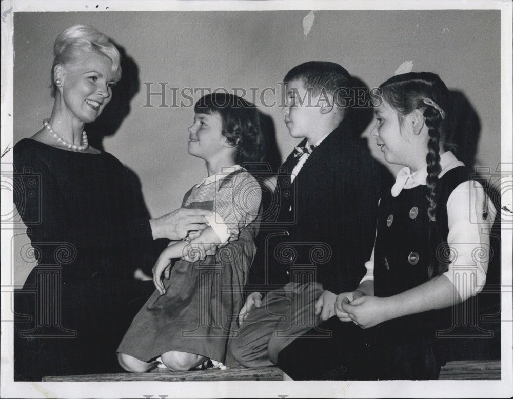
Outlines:
<svg viewBox="0 0 513 399"><path fill-rule="evenodd" d="M121 55L110 39L91 25L73 25L63 31L53 44L51 94L55 98L57 86L53 80L55 65L69 63L78 52L92 51L109 57L112 61L112 73L116 80L121 78Z"/></svg>

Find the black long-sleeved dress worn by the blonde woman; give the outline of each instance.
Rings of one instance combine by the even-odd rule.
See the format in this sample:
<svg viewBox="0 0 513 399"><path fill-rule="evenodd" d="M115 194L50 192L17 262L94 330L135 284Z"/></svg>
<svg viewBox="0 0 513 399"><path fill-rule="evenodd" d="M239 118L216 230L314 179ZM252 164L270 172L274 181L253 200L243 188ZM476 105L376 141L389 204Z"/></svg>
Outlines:
<svg viewBox="0 0 513 399"><path fill-rule="evenodd" d="M14 147L14 202L36 266L14 294L14 379L121 371L116 347L153 292L158 254L140 189L114 156ZM21 254L26 256L26 254Z"/></svg>

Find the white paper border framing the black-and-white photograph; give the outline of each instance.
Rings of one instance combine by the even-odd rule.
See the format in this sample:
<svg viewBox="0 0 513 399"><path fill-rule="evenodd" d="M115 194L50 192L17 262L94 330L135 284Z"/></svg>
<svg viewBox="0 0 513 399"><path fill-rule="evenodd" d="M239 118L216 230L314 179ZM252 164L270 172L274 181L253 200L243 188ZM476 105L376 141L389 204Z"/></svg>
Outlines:
<svg viewBox="0 0 513 399"><path fill-rule="evenodd" d="M99 6L99 7L97 7ZM107 9L108 7L108 9ZM501 131L502 162L512 162L512 3L505 1L105 1L84 0L3 0L2 1L2 150L13 144L13 14L25 11L157 11L157 10L391 10L391 9L499 9L501 10ZM477 27L479 29L479 27ZM2 167L12 164L12 151L2 159ZM504 184L508 184L504 182ZM2 204L12 202L12 192L2 190ZM13 382L12 322L1 323L2 397L511 397L512 357L512 231L502 231L502 379L500 381L223 381L223 382ZM10 242L12 227L2 226L2 281L11 281ZM2 320L12 320L7 286L2 286Z"/></svg>

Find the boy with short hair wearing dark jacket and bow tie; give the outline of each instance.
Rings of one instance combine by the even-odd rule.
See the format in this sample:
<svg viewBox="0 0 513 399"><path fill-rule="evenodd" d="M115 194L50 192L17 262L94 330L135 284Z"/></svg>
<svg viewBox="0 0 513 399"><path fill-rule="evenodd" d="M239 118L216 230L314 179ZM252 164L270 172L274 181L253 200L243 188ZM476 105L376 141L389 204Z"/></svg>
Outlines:
<svg viewBox="0 0 513 399"><path fill-rule="evenodd" d="M275 363L280 350L332 317L336 295L365 274L382 167L347 117L350 79L330 62L307 62L285 76L285 124L303 140L282 165L289 178L286 187L278 183L278 221L252 265L265 269L268 287L280 288L248 296L230 347L244 367Z"/></svg>

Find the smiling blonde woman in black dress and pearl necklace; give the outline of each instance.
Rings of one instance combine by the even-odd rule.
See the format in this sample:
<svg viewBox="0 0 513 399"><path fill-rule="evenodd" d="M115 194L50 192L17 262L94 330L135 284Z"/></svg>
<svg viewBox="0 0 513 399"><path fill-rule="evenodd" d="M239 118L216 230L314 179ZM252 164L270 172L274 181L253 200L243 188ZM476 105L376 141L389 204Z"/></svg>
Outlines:
<svg viewBox="0 0 513 399"><path fill-rule="evenodd" d="M76 25L57 37L54 54L52 113L14 147L16 170L37 176L21 179L24 191L40 193L15 198L38 261L14 298L24 316L15 323L17 381L122 371L115 349L144 303L136 300L153 291L134 270L155 262L159 252L146 253L154 238L202 230L209 213L138 213L127 168L91 147L84 131L112 98L120 53L103 33Z"/></svg>

